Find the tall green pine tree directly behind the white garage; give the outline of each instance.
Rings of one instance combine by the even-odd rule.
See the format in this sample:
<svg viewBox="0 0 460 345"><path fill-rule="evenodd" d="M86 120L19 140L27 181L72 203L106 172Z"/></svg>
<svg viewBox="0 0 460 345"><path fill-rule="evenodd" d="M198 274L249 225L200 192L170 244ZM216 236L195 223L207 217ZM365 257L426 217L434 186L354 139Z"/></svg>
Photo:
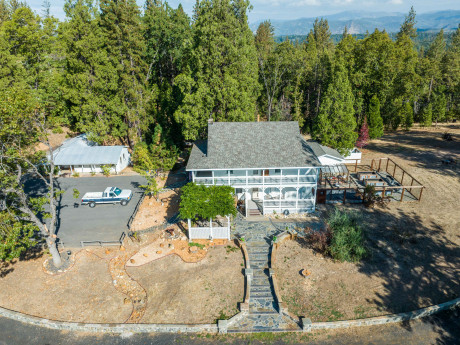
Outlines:
<svg viewBox="0 0 460 345"><path fill-rule="evenodd" d="M67 1L60 29L66 56L63 89L69 122L98 143L124 138L127 125L117 97L117 71L110 63L92 0Z"/></svg>

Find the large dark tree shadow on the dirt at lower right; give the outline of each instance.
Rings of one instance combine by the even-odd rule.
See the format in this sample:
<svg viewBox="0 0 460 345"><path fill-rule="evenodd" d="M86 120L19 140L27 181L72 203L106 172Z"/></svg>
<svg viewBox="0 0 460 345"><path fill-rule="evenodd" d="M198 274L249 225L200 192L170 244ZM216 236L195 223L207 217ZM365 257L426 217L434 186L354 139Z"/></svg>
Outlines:
<svg viewBox="0 0 460 345"><path fill-rule="evenodd" d="M460 247L441 226L413 211L360 207L370 257L359 271L383 280L368 302L380 311L401 313L460 296ZM410 323L402 323L410 330ZM444 336L449 336L449 330ZM442 343L442 342L441 342Z"/></svg>

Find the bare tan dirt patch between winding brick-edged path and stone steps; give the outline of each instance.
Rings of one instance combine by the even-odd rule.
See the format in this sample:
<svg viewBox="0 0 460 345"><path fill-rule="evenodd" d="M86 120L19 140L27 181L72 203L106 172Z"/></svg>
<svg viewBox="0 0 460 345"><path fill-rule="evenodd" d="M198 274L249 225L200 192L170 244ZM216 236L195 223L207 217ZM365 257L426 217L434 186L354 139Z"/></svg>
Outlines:
<svg viewBox="0 0 460 345"><path fill-rule="evenodd" d="M238 312L243 300L243 257L239 249L211 247L197 263L169 255L127 272L147 291L142 322L212 323Z"/></svg>

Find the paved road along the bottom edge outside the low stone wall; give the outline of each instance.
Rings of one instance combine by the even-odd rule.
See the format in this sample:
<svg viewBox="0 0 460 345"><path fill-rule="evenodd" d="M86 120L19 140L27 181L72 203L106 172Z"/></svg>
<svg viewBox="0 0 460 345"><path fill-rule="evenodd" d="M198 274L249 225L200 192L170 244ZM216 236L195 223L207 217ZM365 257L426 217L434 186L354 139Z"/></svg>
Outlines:
<svg viewBox="0 0 460 345"><path fill-rule="evenodd" d="M361 327L304 336L295 340L292 334L247 336L187 336L179 334L135 334L131 336L92 335L61 332L30 326L0 317L0 345L163 345L163 344L438 344L460 343L460 310L447 311L406 325Z"/></svg>

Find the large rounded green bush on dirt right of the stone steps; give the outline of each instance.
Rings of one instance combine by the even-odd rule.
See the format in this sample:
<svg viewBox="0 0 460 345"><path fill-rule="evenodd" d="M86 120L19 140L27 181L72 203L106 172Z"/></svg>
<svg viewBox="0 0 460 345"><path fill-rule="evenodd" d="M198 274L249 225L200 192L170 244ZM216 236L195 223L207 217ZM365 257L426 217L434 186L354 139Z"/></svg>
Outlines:
<svg viewBox="0 0 460 345"><path fill-rule="evenodd" d="M329 253L334 259L358 262L367 255L363 231L356 213L335 209L327 222L332 233Z"/></svg>

